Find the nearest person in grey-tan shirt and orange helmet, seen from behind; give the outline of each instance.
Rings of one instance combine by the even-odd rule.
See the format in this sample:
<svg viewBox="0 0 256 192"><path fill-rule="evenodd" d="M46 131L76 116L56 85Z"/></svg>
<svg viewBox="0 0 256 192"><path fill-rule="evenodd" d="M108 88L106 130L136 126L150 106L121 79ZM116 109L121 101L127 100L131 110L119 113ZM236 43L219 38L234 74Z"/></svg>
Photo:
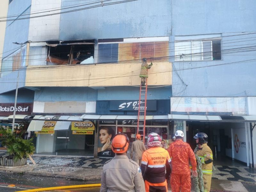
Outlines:
<svg viewBox="0 0 256 192"><path fill-rule="evenodd" d="M100 192L145 192L139 165L126 156L128 145L129 138L123 133L113 138L112 150L116 156L103 166Z"/></svg>

